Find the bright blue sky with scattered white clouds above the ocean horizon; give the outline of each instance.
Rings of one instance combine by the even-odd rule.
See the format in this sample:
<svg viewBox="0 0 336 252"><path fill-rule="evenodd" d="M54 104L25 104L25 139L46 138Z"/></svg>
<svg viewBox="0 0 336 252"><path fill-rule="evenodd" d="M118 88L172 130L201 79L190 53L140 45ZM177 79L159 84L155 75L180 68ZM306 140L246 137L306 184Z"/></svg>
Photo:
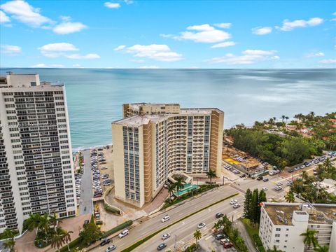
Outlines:
<svg viewBox="0 0 336 252"><path fill-rule="evenodd" d="M1 67L336 67L335 1L0 1Z"/></svg>

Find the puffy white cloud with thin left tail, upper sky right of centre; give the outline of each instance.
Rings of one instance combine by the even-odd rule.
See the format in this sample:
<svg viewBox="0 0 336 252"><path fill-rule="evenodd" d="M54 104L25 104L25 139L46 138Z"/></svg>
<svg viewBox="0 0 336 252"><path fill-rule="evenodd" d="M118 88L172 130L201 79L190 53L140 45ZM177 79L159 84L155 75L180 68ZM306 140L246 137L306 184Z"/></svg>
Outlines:
<svg viewBox="0 0 336 252"><path fill-rule="evenodd" d="M190 40L197 43L218 43L231 38L231 34L226 31L221 31L212 27L209 24L192 25L187 27L188 31L183 31L179 36L172 36L178 40ZM164 37L169 37L169 34L162 34Z"/></svg>

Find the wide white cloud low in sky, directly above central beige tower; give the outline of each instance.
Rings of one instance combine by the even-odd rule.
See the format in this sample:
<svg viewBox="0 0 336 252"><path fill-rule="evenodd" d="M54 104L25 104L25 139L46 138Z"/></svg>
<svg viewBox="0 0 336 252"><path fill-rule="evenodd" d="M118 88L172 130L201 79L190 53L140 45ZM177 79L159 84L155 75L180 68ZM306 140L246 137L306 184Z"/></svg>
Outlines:
<svg viewBox="0 0 336 252"><path fill-rule="evenodd" d="M133 45L124 50L134 57L146 57L161 62L175 62L182 59L182 55L173 52L168 45Z"/></svg>

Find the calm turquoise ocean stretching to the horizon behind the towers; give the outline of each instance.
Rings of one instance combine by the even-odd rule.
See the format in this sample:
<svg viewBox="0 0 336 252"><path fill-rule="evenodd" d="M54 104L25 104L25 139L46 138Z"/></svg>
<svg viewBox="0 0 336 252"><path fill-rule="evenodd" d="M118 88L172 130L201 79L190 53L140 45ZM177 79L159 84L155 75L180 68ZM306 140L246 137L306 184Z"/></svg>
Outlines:
<svg viewBox="0 0 336 252"><path fill-rule="evenodd" d="M0 69L66 87L73 149L111 144L127 102L218 107L225 128L295 113L336 111L336 71L246 69Z"/></svg>

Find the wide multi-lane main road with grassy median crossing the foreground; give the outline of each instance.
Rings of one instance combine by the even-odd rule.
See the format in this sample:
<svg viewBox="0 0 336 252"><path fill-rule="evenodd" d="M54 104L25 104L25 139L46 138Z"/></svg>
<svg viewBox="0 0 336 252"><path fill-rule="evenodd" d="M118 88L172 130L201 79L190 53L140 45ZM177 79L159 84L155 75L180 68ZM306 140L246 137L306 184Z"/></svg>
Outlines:
<svg viewBox="0 0 336 252"><path fill-rule="evenodd" d="M124 248L127 248L127 246L130 246L134 244L135 242L139 241L139 239L142 239L146 237L147 235L152 234L153 232L160 230L161 228L169 225L169 223L174 223L174 221L178 221L184 216L188 216L188 214L191 214L197 209L202 209L203 207L207 207L209 204L213 202L217 202L218 200L221 200L225 197L228 197L235 193L240 193L241 195L244 194L244 192L247 190L247 188L258 188L262 189L263 187L267 187L267 197L268 198L281 198L286 194L285 190L276 191L274 190L274 187L276 183L279 181L282 181L283 188L286 188L286 179L281 178L280 176L267 176L269 178L269 181L263 182L263 181L257 181L257 180L251 180L246 179L244 181L240 181L239 184L235 184L232 186L222 186L221 188L218 188L217 190L214 190L212 192L209 192L205 195L202 195L200 197L197 197L195 200L191 200L190 202L186 202L185 204L181 204L181 206L176 207L174 209L171 209L169 211L163 212L159 214L158 216L154 216L152 218L148 218L148 220L144 221L143 223L140 223L139 225L136 225L134 228L130 230L130 235L127 235L127 237L124 237L123 239L119 239L118 237L114 238L113 242L111 244L115 244L117 246L116 251L121 251ZM240 214L241 211L243 211L243 197L237 196L237 199L240 199L239 202L241 204L241 207L237 209L235 212L236 214ZM219 204L214 205L213 207L210 207L209 209L205 209L204 211L196 214L195 216L191 216L190 218L187 218L181 223L177 223L176 225L172 226L171 228L167 229L167 232L172 232L176 235L178 235L177 243L182 245L186 244L188 239L193 238L193 232L195 232L196 226L200 222L205 222L207 224L207 228L202 230L202 232L205 232L209 230L209 227L212 228L212 225L214 225L214 215L221 211L223 214L229 214L229 216L232 216L232 206L228 204L228 201L221 202ZM171 217L171 220L167 223L161 223L161 218L165 216L165 214L169 214ZM184 224L183 224L184 223ZM209 223L209 224L208 224ZM184 231L186 230L186 231ZM146 246L146 249L139 249L137 248L137 251L151 251L147 250L147 248L155 248L160 244L160 237L163 233L166 231L163 231L159 235L153 237L149 241L146 241L145 244L142 246ZM184 237L184 238L182 238ZM167 244L169 242L169 246L172 246L172 241L174 240L173 237L167 239ZM141 246L141 248L142 248ZM93 251L105 251L107 246L94 248Z"/></svg>

